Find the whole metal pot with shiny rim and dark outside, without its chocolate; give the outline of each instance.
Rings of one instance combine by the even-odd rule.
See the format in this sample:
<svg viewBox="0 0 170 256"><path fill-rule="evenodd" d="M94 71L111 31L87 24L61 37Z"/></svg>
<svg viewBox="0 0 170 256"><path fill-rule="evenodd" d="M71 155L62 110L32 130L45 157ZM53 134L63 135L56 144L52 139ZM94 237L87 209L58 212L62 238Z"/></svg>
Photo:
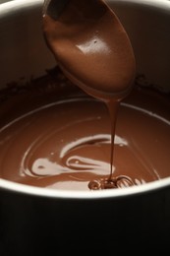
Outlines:
<svg viewBox="0 0 170 256"><path fill-rule="evenodd" d="M170 2L107 1L128 32L143 86L170 92ZM0 88L55 66L41 0L0 5ZM170 177L116 190L51 190L0 178L0 253L170 251Z"/></svg>

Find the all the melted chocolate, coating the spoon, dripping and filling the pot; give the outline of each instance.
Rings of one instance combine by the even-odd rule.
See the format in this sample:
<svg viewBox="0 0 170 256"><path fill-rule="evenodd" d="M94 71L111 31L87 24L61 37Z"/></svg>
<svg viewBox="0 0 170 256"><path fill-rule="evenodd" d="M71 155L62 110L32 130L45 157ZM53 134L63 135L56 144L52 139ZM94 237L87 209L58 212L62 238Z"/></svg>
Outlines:
<svg viewBox="0 0 170 256"><path fill-rule="evenodd" d="M104 2L69 3L43 19L60 68L1 91L0 177L98 190L169 176L168 96L133 83L130 40Z"/></svg>

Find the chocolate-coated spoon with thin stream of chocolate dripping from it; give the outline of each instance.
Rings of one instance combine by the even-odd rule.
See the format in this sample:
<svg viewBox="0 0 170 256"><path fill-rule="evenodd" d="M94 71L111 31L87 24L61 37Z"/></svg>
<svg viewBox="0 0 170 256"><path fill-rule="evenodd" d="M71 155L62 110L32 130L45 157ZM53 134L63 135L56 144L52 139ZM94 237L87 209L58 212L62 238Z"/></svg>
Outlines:
<svg viewBox="0 0 170 256"><path fill-rule="evenodd" d="M43 30L65 75L88 95L107 104L111 117L110 175L97 182L103 188L117 187L112 177L117 111L135 77L135 57L128 35L113 11L100 0L69 1L56 21L44 15ZM89 187L97 189L95 183L89 182Z"/></svg>

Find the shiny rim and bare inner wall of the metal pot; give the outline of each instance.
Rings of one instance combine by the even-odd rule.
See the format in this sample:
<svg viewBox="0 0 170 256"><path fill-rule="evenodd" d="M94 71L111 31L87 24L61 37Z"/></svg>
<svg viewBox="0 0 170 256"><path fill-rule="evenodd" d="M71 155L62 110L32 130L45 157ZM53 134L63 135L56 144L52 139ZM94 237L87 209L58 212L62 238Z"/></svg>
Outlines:
<svg viewBox="0 0 170 256"><path fill-rule="evenodd" d="M137 78L143 86L170 92L170 2L107 1L117 14L134 47ZM0 88L12 81L28 81L55 66L46 47L41 24L43 1L12 1L0 6ZM54 191L0 179L0 187L50 197L97 198L143 193L170 184L170 178L121 190L91 192Z"/></svg>

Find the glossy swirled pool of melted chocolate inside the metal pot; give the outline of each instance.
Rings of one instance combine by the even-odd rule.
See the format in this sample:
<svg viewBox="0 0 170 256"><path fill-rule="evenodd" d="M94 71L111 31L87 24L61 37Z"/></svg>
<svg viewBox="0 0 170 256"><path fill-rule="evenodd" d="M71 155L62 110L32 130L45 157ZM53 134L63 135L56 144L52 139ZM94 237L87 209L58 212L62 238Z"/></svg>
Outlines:
<svg viewBox="0 0 170 256"><path fill-rule="evenodd" d="M4 179L88 190L90 180L92 189L122 188L169 176L169 96L135 85L121 101L110 183L110 116L102 101L86 96L59 69L28 86L8 87L0 99Z"/></svg>

